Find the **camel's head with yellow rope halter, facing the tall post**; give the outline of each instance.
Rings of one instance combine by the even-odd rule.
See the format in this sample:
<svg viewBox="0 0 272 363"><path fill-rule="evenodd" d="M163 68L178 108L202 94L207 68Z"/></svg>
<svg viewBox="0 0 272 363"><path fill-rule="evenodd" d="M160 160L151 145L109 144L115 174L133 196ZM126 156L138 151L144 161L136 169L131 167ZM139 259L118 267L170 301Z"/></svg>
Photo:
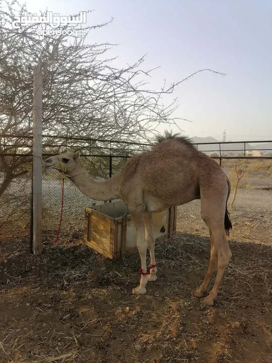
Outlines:
<svg viewBox="0 0 272 363"><path fill-rule="evenodd" d="M44 161L44 166L58 171L64 171L65 168L69 172L79 163L79 157L79 151L74 153L67 151L64 154L50 156Z"/></svg>

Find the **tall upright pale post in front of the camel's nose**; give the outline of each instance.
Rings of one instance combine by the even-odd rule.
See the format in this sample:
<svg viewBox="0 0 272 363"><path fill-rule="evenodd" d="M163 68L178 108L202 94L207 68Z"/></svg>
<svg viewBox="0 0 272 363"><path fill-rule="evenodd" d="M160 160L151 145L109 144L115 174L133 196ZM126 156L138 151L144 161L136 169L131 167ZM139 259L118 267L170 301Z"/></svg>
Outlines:
<svg viewBox="0 0 272 363"><path fill-rule="evenodd" d="M42 253L42 73L33 71L33 243L34 255Z"/></svg>

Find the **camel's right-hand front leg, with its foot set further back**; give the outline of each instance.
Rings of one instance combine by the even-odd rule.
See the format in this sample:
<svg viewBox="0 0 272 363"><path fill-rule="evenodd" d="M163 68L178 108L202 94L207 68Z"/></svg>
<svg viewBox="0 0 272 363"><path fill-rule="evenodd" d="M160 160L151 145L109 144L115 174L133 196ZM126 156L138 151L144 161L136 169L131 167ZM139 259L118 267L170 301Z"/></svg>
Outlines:
<svg viewBox="0 0 272 363"><path fill-rule="evenodd" d="M146 241L150 253L150 263L151 263L150 275L148 275L147 280L156 281L157 267L155 260L155 234L153 229L152 212L147 212L147 211L144 212L144 223L146 228Z"/></svg>

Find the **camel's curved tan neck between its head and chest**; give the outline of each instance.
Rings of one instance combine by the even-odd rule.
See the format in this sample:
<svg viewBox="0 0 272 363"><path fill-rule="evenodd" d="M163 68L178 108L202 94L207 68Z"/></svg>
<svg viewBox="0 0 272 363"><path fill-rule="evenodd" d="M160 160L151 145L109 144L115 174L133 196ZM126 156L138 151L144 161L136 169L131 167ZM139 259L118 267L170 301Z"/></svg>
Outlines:
<svg viewBox="0 0 272 363"><path fill-rule="evenodd" d="M110 199L120 198L120 173L117 173L113 177L106 180L96 180L92 178L84 169L84 167L79 163L77 167L71 172L67 170L66 174L71 176L70 179L79 188L79 190L91 199L107 201Z"/></svg>

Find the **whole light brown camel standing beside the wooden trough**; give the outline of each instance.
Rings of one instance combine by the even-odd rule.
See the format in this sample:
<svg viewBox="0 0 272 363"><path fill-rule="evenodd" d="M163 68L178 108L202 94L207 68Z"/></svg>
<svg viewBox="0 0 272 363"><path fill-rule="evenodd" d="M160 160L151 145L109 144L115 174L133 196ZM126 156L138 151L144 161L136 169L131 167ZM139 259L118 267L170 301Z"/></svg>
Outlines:
<svg viewBox="0 0 272 363"><path fill-rule="evenodd" d="M200 199L201 218L210 231L211 255L205 279L191 293L202 297L217 267L214 286L201 299L203 305L214 305L232 257L226 238L232 228L227 209L230 181L214 159L198 151L187 137L166 131L164 136L157 136L151 150L133 155L117 174L106 180L96 180L88 174L80 162L79 151L51 156L44 166L65 172L82 193L94 200L122 199L127 205L141 257L140 285L133 288L133 294L145 294L147 282L157 280L152 212ZM151 260L148 268L147 249Z"/></svg>

